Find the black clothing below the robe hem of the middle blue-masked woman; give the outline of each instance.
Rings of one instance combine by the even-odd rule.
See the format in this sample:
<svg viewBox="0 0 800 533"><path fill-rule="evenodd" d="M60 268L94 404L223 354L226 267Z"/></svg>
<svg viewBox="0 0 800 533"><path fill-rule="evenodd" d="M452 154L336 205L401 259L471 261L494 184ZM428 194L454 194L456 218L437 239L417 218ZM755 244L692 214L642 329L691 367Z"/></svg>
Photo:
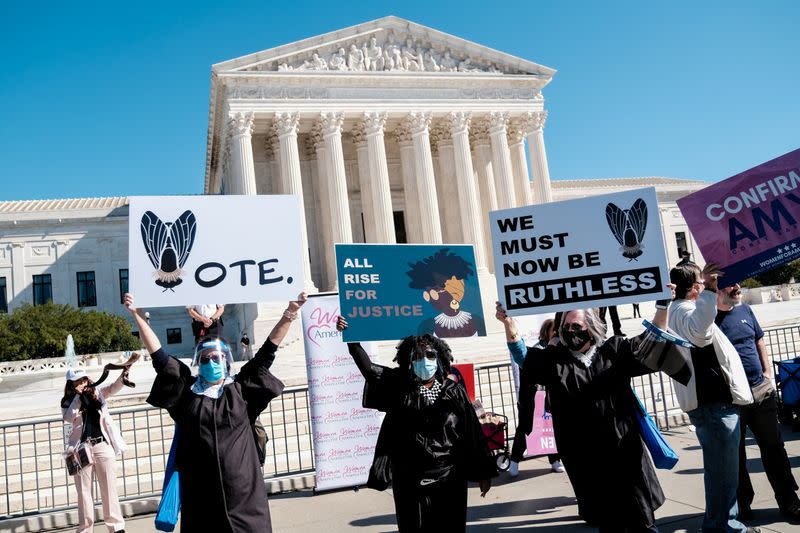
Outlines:
<svg viewBox="0 0 800 533"><path fill-rule="evenodd" d="M467 480L451 475L430 485L392 482L400 533L462 533L467 529Z"/></svg>

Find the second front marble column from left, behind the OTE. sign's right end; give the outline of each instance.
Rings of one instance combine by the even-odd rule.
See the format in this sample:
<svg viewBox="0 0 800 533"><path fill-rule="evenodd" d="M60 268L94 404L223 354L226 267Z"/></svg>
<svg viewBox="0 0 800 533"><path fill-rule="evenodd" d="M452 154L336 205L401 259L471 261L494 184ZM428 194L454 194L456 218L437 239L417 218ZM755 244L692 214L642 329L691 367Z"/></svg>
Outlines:
<svg viewBox="0 0 800 533"><path fill-rule="evenodd" d="M303 250L303 277L306 292L317 292L311 278L311 258L308 250L308 224L306 223L306 202L303 195L303 179L300 174L300 151L297 147L297 128L300 125L298 113L278 113L275 115L275 129L280 145L281 184L284 194L297 196L300 204L300 242Z"/></svg>

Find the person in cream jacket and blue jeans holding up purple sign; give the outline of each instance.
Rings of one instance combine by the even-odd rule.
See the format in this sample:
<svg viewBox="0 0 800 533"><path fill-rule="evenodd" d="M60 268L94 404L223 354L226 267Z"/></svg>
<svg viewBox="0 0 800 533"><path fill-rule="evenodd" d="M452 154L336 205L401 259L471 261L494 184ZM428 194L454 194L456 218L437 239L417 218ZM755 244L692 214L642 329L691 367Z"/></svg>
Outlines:
<svg viewBox="0 0 800 533"><path fill-rule="evenodd" d="M713 263L700 270L695 263L686 262L670 270L675 301L670 306L669 326L695 346L691 349L692 379L688 385L674 383L675 396L697 428L703 450L703 531L758 531L737 518L739 406L752 403L753 395L739 354L714 324L715 292L721 275Z"/></svg>

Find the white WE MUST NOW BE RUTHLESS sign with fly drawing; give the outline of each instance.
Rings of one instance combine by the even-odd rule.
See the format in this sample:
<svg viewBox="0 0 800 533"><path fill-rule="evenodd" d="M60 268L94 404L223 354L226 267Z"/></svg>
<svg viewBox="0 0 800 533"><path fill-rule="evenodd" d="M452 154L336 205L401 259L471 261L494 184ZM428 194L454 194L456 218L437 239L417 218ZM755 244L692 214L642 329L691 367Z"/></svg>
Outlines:
<svg viewBox="0 0 800 533"><path fill-rule="evenodd" d="M500 302L511 316L668 298L655 189L489 214Z"/></svg>

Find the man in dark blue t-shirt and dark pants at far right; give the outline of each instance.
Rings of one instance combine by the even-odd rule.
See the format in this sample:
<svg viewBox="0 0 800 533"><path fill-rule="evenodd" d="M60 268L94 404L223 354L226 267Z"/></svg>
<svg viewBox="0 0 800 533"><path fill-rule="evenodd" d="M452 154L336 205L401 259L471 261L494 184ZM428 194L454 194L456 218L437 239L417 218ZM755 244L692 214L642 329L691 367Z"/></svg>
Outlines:
<svg viewBox="0 0 800 533"><path fill-rule="evenodd" d="M740 408L741 438L739 439L739 488L737 502L739 517L752 517L751 505L755 492L747 473L745 435L750 428L761 452L767 474L781 514L800 521L800 498L792 465L783 445L778 427L777 392L773 384L772 362L764 345L764 332L749 305L742 303L739 284L717 292L717 326L728 337L742 360L747 382L753 392L753 403Z"/></svg>

